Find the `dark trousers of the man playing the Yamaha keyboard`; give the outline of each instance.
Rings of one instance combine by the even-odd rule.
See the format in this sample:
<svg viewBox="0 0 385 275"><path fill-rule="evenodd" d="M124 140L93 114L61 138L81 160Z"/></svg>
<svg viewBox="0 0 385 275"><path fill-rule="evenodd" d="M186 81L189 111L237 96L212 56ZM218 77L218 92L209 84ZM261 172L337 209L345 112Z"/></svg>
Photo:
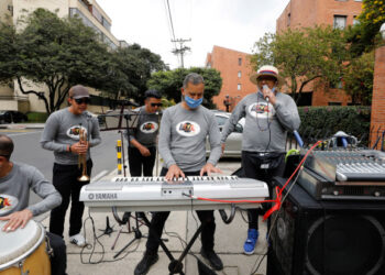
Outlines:
<svg viewBox="0 0 385 275"><path fill-rule="evenodd" d="M162 168L161 176L165 176L167 174L166 168ZM199 172L185 172L186 176L197 176ZM200 222L202 223L202 231L200 233L200 239L202 243L202 249L205 251L213 250L213 235L216 233L216 220L213 217L213 210L201 210L196 211ZM169 216L169 211L165 212L154 212L153 218L151 220L148 240L146 243L146 253L155 254L160 248L158 238L162 235L162 231L164 224ZM155 232L155 234L154 234Z"/></svg>

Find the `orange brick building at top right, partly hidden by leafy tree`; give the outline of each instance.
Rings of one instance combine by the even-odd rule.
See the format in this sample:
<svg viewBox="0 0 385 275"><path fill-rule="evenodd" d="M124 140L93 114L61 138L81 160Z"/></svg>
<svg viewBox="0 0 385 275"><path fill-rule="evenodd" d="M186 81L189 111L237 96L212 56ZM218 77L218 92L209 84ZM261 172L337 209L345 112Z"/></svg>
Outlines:
<svg viewBox="0 0 385 275"><path fill-rule="evenodd" d="M276 32L322 24L343 29L356 22L355 18L361 10L362 0L290 0L276 21ZM346 106L351 98L341 87L342 84L327 88L326 85L312 81L304 91L311 96L312 106Z"/></svg>

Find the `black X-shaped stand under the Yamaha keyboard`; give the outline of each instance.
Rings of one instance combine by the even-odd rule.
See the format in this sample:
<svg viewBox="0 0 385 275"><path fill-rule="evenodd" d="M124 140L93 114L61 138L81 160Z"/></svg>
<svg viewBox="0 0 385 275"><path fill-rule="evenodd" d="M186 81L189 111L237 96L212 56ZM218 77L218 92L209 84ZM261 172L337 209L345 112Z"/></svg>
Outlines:
<svg viewBox="0 0 385 275"><path fill-rule="evenodd" d="M143 218L144 223L148 227L148 230L151 230L150 227L150 221L146 217ZM166 253L166 255L168 256L170 263L168 264L168 271L169 274L182 274L185 275L185 273L183 272L183 263L182 261L185 258L185 256L187 255L187 253L189 252L189 250L191 249L193 244L195 243L195 241L197 240L197 238L199 237L200 232L202 230L202 224L200 223L199 228L197 229L197 231L195 231L191 240L187 243L187 246L185 248L185 250L182 252L182 255L178 257L178 260L176 260L173 254L169 252L169 250L167 249L167 246L164 244L163 240L161 239L161 237L158 237L156 234L156 232L151 232L153 233L160 241L160 245L162 246L163 251Z"/></svg>

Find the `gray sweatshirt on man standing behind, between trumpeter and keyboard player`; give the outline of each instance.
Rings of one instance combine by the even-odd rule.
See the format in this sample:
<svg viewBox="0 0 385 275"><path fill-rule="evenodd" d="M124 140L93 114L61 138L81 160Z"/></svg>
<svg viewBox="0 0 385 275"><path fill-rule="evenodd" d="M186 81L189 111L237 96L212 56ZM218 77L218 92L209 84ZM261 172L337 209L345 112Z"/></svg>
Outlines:
<svg viewBox="0 0 385 275"><path fill-rule="evenodd" d="M134 110L136 111L136 110ZM129 141L136 140L139 143L146 147L156 145L156 135L160 130L160 113L148 113L145 111L145 106L139 108L138 112L138 127L130 129ZM124 132L125 139L128 138L127 131ZM129 146L133 146L129 143Z"/></svg>

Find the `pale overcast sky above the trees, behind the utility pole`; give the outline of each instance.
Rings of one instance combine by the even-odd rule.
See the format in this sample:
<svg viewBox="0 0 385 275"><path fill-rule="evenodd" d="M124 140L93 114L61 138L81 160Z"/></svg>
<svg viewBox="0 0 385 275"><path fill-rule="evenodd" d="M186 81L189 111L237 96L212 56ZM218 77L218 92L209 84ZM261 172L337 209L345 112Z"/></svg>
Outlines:
<svg viewBox="0 0 385 275"><path fill-rule="evenodd" d="M275 32L276 19L289 0L168 0L176 38L191 38L185 67L205 66L213 45L251 53L266 32ZM118 40L139 43L162 56L170 68L179 66L166 0L98 0L112 20Z"/></svg>

